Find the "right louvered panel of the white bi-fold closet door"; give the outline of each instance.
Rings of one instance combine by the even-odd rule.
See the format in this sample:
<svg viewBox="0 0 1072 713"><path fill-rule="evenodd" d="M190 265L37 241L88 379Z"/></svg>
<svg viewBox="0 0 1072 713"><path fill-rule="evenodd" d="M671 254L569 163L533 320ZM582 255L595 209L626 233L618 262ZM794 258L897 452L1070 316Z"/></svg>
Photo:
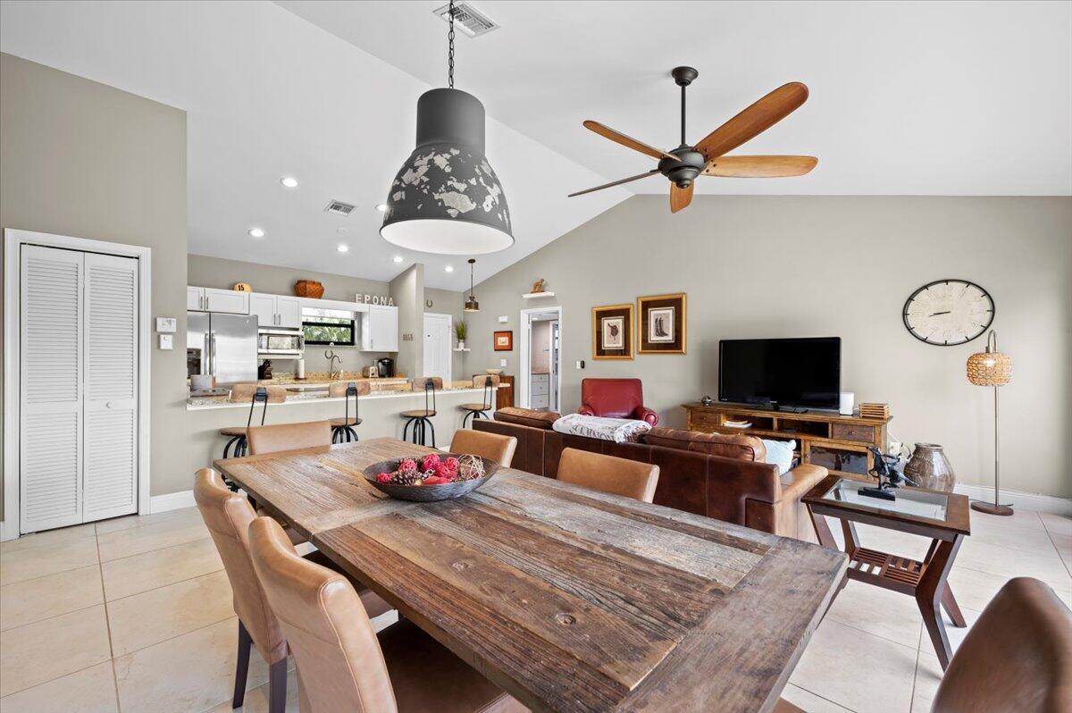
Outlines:
<svg viewBox="0 0 1072 713"><path fill-rule="evenodd" d="M81 521L137 511L137 259L86 253Z"/></svg>

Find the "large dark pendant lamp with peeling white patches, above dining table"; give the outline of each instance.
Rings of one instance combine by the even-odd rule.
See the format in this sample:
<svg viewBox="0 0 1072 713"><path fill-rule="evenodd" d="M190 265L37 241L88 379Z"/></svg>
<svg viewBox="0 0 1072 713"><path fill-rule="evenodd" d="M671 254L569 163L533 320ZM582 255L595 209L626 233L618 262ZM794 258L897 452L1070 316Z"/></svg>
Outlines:
<svg viewBox="0 0 1072 713"><path fill-rule="evenodd" d="M478 255L513 244L510 211L483 155L483 104L455 89L455 3L450 2L448 88L417 100L417 148L387 196L379 235L400 248Z"/></svg>

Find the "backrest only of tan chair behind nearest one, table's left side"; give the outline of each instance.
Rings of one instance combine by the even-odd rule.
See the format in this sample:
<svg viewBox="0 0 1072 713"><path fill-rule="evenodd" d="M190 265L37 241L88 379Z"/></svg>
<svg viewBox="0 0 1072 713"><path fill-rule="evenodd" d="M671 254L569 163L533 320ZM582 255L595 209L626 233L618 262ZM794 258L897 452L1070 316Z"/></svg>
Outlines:
<svg viewBox="0 0 1072 713"><path fill-rule="evenodd" d="M250 522L256 519L250 502L228 490L220 474L210 467L194 475L194 500L223 560L234 592L235 613L268 664L286 658L286 639L250 560L248 532Z"/></svg>

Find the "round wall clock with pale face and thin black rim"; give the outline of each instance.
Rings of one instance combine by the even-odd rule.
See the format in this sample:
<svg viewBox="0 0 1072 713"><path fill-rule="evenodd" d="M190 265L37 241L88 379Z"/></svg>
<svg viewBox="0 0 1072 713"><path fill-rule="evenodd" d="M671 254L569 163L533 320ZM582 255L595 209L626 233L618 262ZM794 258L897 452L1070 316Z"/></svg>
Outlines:
<svg viewBox="0 0 1072 713"><path fill-rule="evenodd" d="M994 300L967 280L936 280L905 301L905 328L912 337L938 346L970 342L994 322Z"/></svg>

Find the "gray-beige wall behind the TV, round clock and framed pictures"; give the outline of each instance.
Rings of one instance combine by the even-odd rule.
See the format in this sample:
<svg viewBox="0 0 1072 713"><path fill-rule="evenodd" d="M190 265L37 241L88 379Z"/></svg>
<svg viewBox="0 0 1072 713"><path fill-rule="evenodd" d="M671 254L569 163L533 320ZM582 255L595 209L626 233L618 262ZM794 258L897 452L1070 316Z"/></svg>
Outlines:
<svg viewBox="0 0 1072 713"><path fill-rule="evenodd" d="M563 306L564 411L579 405L584 376L639 376L647 404L680 427L682 402L716 396L719 339L839 336L844 390L889 402L897 440L943 444L961 481L987 485L992 393L965 377L985 340L930 346L900 316L932 280L978 282L1013 358L1001 391L1002 485L1072 495L1070 197L697 196L671 214L665 196L636 196L477 285L473 370L505 356L517 373L519 310L534 307L520 296L537 278ZM594 306L676 292L688 294L686 355L592 360ZM495 329L515 330L513 352L492 351Z"/></svg>

